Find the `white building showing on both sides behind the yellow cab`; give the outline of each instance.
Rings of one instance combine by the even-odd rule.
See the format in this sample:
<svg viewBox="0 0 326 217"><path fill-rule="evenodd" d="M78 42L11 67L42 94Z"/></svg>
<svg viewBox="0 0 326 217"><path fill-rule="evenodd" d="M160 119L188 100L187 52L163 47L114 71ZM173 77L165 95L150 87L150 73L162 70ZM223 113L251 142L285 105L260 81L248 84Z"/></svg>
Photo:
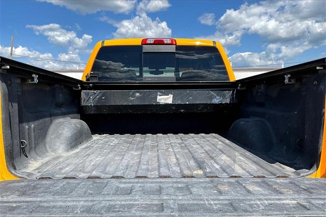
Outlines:
<svg viewBox="0 0 326 217"><path fill-rule="evenodd" d="M235 78L241 79L244 77L250 77L250 76L257 75L257 74L274 71L274 70L277 70L280 68L281 67L256 67L256 68L254 68L254 67L251 67L251 68L250 67L243 67L243 68L234 67L233 71L234 71ZM84 69L53 69L50 71L58 72L60 74L67 75L69 77L82 79Z"/></svg>

